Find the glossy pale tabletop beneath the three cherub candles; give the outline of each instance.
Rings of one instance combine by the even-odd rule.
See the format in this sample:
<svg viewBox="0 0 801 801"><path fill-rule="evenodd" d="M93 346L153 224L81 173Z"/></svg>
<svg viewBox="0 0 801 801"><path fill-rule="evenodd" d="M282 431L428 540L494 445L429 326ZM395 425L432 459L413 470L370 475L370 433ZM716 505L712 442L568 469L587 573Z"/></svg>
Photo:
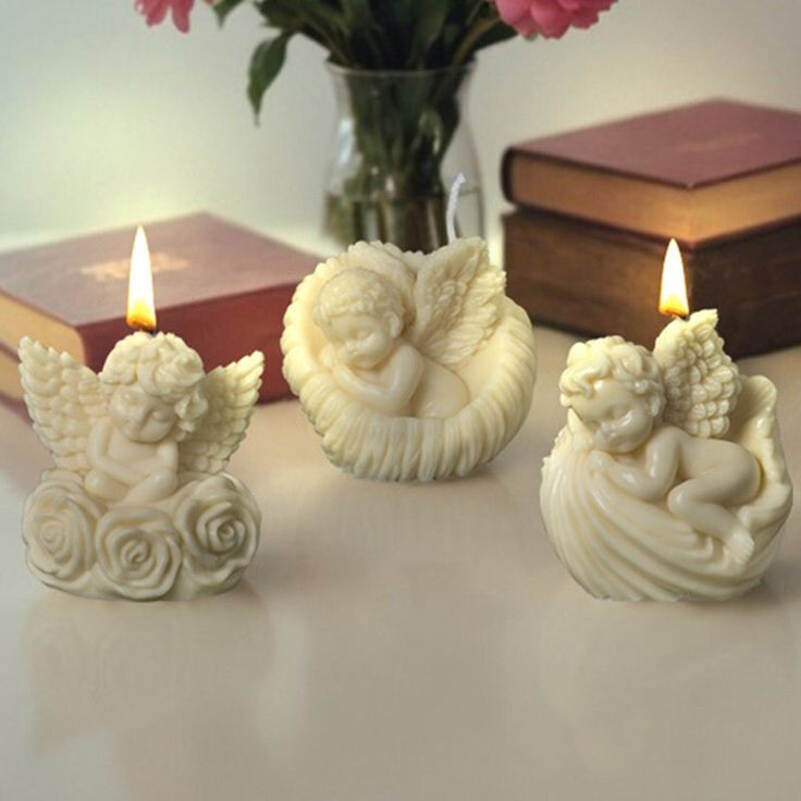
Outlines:
<svg viewBox="0 0 801 801"><path fill-rule="evenodd" d="M48 457L0 408L0 798L466 801L801 798L801 515L728 604L591 599L552 553L539 469L572 338L538 330L521 432L460 481L341 475L298 405L260 407L232 471L264 513L243 584L85 601L23 563ZM801 349L779 386L801 457Z"/></svg>

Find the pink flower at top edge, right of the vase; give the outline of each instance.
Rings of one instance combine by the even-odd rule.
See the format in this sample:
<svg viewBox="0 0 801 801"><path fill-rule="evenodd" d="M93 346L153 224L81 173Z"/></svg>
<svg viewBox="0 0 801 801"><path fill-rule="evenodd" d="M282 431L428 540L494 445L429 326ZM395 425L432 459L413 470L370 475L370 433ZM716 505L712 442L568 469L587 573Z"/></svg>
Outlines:
<svg viewBox="0 0 801 801"><path fill-rule="evenodd" d="M615 0L495 0L501 19L523 36L559 38L569 27L589 28Z"/></svg>

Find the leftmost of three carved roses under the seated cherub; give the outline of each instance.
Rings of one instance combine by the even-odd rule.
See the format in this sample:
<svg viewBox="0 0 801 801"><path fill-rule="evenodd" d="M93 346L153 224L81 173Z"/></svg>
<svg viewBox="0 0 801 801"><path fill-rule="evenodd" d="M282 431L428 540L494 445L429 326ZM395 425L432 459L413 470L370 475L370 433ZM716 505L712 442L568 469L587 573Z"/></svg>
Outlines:
<svg viewBox="0 0 801 801"><path fill-rule="evenodd" d="M77 476L46 473L25 502L23 540L30 570L45 583L66 588L95 563L93 534L101 506L84 491Z"/></svg>

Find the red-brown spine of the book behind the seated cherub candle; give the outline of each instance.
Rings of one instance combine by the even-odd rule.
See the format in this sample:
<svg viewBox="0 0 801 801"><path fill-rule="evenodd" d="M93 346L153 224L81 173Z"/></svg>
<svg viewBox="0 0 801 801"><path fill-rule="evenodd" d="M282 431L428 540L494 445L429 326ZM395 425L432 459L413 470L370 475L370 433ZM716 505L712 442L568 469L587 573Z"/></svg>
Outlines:
<svg viewBox="0 0 801 801"><path fill-rule="evenodd" d="M291 397L292 392L281 373L279 342L284 312L294 292L294 286L270 287L247 295L173 307L158 312L159 330L181 336L198 352L207 370L261 350L264 374L259 401ZM121 318L82 326L79 334L86 363L95 371L101 370L114 344L130 333Z"/></svg>

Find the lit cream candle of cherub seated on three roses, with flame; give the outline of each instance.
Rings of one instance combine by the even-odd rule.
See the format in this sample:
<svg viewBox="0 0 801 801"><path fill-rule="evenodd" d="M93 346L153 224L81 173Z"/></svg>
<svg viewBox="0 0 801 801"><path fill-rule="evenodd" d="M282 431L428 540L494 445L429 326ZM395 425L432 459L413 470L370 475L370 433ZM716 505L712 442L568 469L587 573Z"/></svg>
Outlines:
<svg viewBox="0 0 801 801"><path fill-rule="evenodd" d="M127 322L99 374L69 354L20 343L25 403L56 468L25 504L32 572L90 597L192 599L234 587L261 516L223 470L245 436L263 356L206 373L156 329L147 242L137 232Z"/></svg>

